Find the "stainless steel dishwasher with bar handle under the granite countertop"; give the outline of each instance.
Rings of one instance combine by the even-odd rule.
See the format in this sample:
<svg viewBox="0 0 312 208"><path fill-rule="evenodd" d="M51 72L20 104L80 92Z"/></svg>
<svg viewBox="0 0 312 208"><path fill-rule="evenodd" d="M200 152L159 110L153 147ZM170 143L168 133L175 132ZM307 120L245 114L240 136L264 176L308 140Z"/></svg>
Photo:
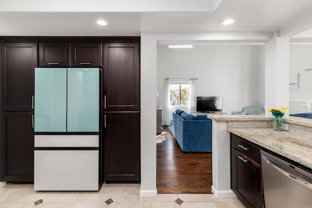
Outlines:
<svg viewBox="0 0 312 208"><path fill-rule="evenodd" d="M261 152L266 208L312 208L312 170L274 153Z"/></svg>

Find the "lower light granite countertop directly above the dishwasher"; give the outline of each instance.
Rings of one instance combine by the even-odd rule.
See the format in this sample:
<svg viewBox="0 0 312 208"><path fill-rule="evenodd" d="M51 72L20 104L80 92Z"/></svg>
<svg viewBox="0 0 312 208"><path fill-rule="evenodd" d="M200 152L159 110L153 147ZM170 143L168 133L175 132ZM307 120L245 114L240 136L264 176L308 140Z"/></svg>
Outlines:
<svg viewBox="0 0 312 208"><path fill-rule="evenodd" d="M271 128L228 128L227 131L312 169L310 136Z"/></svg>

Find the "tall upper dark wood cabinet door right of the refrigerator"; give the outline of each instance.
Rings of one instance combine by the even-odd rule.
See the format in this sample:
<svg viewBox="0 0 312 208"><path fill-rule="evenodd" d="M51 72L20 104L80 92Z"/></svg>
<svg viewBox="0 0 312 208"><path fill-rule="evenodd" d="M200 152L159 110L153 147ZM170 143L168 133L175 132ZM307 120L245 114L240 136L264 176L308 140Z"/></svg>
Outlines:
<svg viewBox="0 0 312 208"><path fill-rule="evenodd" d="M104 111L139 111L139 44L103 44Z"/></svg>

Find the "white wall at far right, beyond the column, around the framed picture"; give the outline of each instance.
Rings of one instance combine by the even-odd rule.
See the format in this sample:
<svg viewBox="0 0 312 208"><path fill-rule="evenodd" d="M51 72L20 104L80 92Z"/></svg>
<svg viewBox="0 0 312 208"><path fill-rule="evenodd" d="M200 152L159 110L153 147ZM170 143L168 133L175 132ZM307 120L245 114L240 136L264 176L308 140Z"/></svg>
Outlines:
<svg viewBox="0 0 312 208"><path fill-rule="evenodd" d="M312 100L312 44L290 45L290 74L299 73L299 89L289 90L290 101Z"/></svg>

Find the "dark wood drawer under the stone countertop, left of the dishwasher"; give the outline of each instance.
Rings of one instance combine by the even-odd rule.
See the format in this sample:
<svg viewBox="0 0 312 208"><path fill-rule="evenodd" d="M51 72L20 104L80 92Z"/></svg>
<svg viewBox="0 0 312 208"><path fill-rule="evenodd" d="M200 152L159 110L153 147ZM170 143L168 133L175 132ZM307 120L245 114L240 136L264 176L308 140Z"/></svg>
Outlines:
<svg viewBox="0 0 312 208"><path fill-rule="evenodd" d="M236 136L233 133L231 133L231 143L232 148L245 153L247 156L261 164L260 150L263 148L250 141L247 141L246 139Z"/></svg>

